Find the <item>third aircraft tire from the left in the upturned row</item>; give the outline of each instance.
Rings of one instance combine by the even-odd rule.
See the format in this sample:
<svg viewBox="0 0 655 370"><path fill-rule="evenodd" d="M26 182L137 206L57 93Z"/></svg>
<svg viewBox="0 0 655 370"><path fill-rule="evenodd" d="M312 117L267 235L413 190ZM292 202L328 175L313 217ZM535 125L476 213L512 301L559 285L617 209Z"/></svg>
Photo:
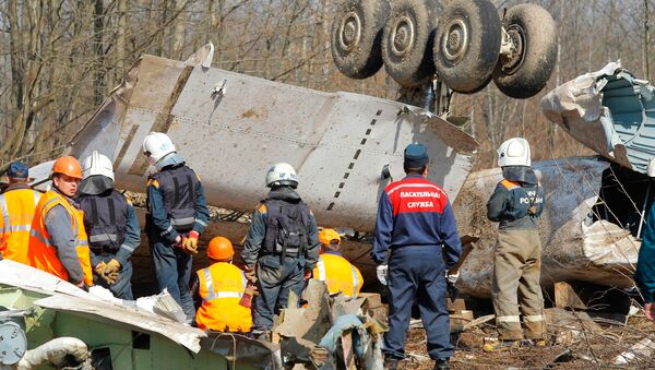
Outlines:
<svg viewBox="0 0 655 370"><path fill-rule="evenodd" d="M498 63L501 26L489 0L452 0L434 33L434 68L443 83L472 94L490 81Z"/></svg>

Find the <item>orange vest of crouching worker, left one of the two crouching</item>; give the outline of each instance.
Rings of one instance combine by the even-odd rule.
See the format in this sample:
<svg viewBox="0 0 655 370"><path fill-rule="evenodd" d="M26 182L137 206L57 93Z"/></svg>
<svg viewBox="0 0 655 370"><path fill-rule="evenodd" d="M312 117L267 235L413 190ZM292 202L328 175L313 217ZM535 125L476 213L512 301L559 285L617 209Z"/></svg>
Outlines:
<svg viewBox="0 0 655 370"><path fill-rule="evenodd" d="M250 332L252 313L239 305L248 281L243 272L227 262L199 270L202 306L195 313L198 327L219 332Z"/></svg>

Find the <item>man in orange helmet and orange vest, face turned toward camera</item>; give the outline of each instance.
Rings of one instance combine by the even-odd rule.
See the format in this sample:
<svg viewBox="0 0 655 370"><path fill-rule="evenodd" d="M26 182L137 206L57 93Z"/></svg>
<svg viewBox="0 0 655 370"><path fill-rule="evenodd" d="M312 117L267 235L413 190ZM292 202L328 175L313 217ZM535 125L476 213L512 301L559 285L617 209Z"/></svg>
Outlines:
<svg viewBox="0 0 655 370"><path fill-rule="evenodd" d="M52 189L36 205L27 260L31 266L48 272L80 288L93 285L88 241L82 212L73 201L82 181L78 159L64 156L52 165Z"/></svg>

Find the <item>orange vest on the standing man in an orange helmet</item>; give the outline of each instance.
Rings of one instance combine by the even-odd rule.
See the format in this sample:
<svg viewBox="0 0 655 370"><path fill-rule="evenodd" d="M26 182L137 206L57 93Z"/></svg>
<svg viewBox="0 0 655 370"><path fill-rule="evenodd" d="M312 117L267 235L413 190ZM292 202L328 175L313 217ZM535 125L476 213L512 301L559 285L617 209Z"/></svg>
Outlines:
<svg viewBox="0 0 655 370"><path fill-rule="evenodd" d="M68 272L57 256L57 247L50 242L50 234L46 228L45 217L53 206L61 205L68 212L72 223L71 229L75 239L75 250L80 259L80 265L84 273L84 284L93 285L93 270L88 256L88 240L84 230L83 214L72 206L62 195L52 190L44 193L36 205L32 230L29 231L29 247L27 259L29 265L48 272L61 279L69 281Z"/></svg>

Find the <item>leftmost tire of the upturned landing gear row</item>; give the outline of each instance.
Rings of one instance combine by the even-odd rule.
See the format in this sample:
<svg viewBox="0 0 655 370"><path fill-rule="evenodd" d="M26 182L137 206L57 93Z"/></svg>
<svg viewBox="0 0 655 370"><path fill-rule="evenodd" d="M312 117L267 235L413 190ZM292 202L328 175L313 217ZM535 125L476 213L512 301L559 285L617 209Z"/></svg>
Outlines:
<svg viewBox="0 0 655 370"><path fill-rule="evenodd" d="M382 32L388 0L347 0L332 22L331 49L336 68L352 79L367 79L382 68Z"/></svg>

